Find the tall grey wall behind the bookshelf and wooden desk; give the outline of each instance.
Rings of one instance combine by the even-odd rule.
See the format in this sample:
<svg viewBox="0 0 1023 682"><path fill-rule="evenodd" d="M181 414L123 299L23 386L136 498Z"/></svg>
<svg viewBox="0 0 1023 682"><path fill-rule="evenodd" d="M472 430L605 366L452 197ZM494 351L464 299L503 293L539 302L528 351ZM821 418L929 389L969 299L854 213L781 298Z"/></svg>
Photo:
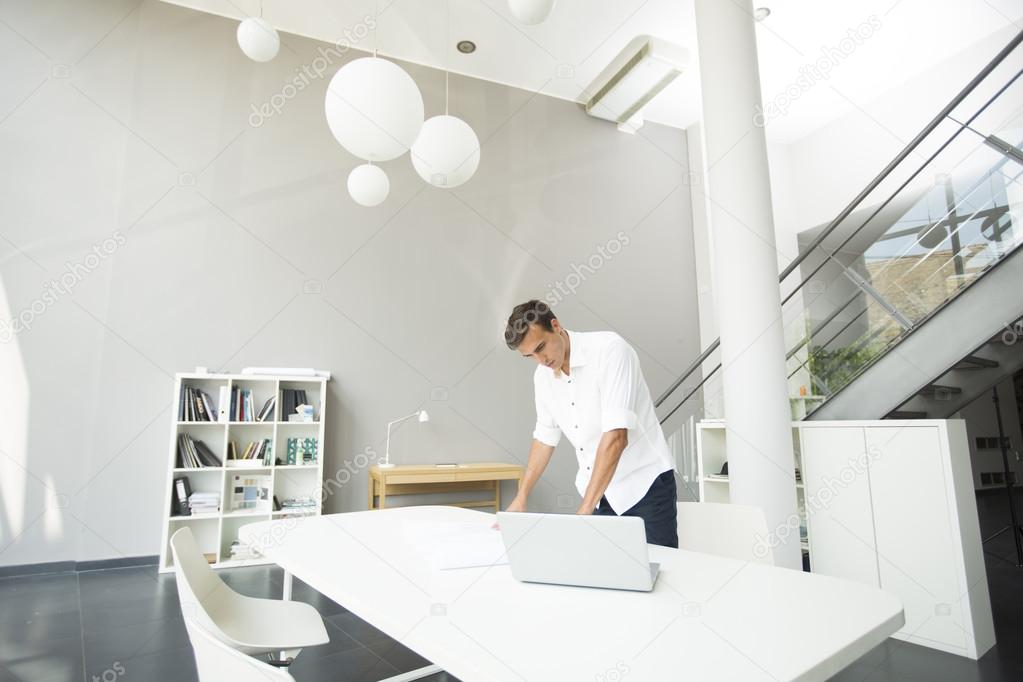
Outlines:
<svg viewBox="0 0 1023 682"><path fill-rule="evenodd" d="M159 551L173 374L196 365L332 370L327 475L420 407L432 421L397 433L397 460L523 461L532 364L502 320L620 231L628 245L558 294L559 316L629 338L655 394L699 352L679 131L630 136L453 77L476 177L437 190L404 156L363 209L326 79L251 125L320 44L283 36L257 64L233 21L153 1L0 18L0 564ZM406 67L441 112L443 75ZM563 445L532 507L574 507L574 462ZM360 471L327 508L365 495Z"/></svg>

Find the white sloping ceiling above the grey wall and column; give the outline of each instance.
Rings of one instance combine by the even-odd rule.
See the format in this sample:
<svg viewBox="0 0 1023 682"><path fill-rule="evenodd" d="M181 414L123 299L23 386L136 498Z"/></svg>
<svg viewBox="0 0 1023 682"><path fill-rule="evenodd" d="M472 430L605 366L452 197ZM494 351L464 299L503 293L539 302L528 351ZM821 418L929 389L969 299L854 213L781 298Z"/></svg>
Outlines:
<svg viewBox="0 0 1023 682"><path fill-rule="evenodd" d="M174 4L231 17L260 11L259 0ZM550 17L535 27L516 22L505 0L263 0L262 5L263 16L279 30L331 43L362 35L379 5L375 41L383 55L573 101L585 99L591 80L630 39L655 35L688 48L694 65L651 102L646 118L679 128L701 118L694 0L558 0ZM1019 0L758 0L757 5L771 9L757 25L765 101L795 83L822 48L839 47L850 29L869 20L878 27L841 57L826 82L769 122L768 135L780 142L803 137L1007 26L1023 30ZM477 44L474 54L454 50L462 39ZM372 50L373 40L370 33L352 46ZM992 45L992 53L997 47Z"/></svg>

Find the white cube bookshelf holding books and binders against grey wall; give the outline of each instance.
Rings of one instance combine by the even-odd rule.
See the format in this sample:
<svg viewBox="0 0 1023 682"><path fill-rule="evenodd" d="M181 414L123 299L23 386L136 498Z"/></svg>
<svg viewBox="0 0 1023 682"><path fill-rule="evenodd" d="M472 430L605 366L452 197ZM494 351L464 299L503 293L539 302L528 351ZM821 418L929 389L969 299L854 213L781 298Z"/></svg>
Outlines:
<svg viewBox="0 0 1023 682"><path fill-rule="evenodd" d="M173 424L168 449L168 470L164 495L164 529L160 551L160 571L169 572L174 567L170 551L170 538L183 527L191 529L199 550L213 558L214 569L228 566L257 565L266 563L263 559L231 559L231 542L237 539L238 529L246 524L288 516L304 517L318 515L322 510L323 481L323 436L326 408L326 379L311 376L262 376L253 374L193 374L180 373L174 379ZM266 421L179 421L178 401L182 385L190 385L205 391L219 412L220 389L226 387L228 396L232 388L252 391L255 410L258 412L266 399L276 396L273 413ZM281 391L300 389L314 408L314 421L287 421L281 414ZM178 436L189 435L193 440L203 441L220 458L223 466L182 468L178 466ZM315 438L317 443L316 461L310 464L286 464L287 439ZM234 441L237 454L241 454L246 444L252 441L270 439L272 458L281 465L264 465L253 460L251 464L227 465L228 444ZM231 486L235 474L259 474L270 476L270 499L265 508L232 509ZM216 513L179 516L177 509L171 509L174 480L187 476L191 491L219 491L220 510ZM288 497L309 496L318 503L313 510L273 510L273 499L281 502Z"/></svg>

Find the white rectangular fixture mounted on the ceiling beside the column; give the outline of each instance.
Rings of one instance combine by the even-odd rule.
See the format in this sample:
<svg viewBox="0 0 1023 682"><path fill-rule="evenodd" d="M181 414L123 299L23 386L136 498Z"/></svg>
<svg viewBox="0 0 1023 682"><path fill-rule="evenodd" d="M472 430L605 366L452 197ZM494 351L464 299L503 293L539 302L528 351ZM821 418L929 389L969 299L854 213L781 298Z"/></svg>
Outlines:
<svg viewBox="0 0 1023 682"><path fill-rule="evenodd" d="M690 63L690 52L652 36L636 36L601 72L587 93L586 112L634 133L642 126L642 108Z"/></svg>

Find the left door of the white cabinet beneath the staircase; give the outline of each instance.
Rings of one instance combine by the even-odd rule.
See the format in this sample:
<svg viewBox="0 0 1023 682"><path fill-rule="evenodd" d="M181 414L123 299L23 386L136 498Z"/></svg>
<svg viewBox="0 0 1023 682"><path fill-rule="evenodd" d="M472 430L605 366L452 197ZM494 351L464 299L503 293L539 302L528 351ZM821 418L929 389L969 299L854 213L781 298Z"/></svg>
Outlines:
<svg viewBox="0 0 1023 682"><path fill-rule="evenodd" d="M878 586L863 429L801 429L810 571Z"/></svg>

